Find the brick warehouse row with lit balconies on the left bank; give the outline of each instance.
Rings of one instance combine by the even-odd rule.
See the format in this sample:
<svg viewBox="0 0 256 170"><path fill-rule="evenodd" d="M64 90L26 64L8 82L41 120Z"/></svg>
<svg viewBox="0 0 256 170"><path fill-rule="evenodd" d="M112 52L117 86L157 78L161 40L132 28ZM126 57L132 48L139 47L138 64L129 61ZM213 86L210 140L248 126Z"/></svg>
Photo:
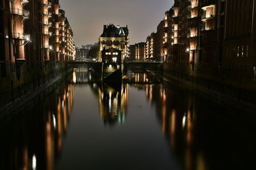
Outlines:
<svg viewBox="0 0 256 170"><path fill-rule="evenodd" d="M63 61L74 59L73 32L58 0L2 0L0 18L0 93L12 100L54 78Z"/></svg>

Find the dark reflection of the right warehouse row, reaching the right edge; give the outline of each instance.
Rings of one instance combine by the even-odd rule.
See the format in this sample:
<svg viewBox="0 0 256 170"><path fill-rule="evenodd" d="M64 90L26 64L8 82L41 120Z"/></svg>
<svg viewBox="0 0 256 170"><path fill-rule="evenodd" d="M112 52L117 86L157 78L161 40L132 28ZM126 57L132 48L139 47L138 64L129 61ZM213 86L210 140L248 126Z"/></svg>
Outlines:
<svg viewBox="0 0 256 170"><path fill-rule="evenodd" d="M152 106L156 105L161 131L170 143L171 153L182 162L184 169L244 169L253 166L252 153L256 148L252 145L256 140L253 131L248 133L247 125L240 120L246 117L245 111L220 104L216 107L212 101L205 103L205 99L194 96L193 92L167 82L144 85L143 89ZM243 139L237 136L243 136ZM242 143L243 149L239 148ZM245 143L249 146L246 147Z"/></svg>

